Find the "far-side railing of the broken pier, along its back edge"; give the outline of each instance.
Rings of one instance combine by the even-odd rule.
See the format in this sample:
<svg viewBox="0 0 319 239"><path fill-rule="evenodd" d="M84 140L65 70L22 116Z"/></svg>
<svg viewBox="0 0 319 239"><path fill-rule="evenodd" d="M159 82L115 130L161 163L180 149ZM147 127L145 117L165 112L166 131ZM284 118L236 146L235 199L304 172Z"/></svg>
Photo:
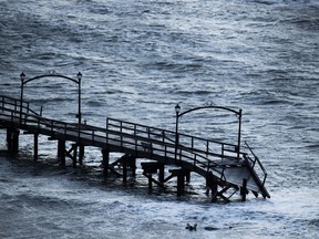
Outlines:
<svg viewBox="0 0 319 239"><path fill-rule="evenodd" d="M52 131L54 129L54 125L59 125L59 127L64 127L64 133L70 131L76 131L79 134L81 132L82 135L91 136L92 139L94 138L101 138L103 136L107 137L106 132L113 131L132 135L133 137L143 137L147 138L152 142L162 142L168 145L174 144L174 148L177 147L181 150L191 152L192 154L198 154L202 157L205 157L209 160L216 160L216 159L224 159L224 158L230 158L234 159L237 155L237 146L233 144L227 143L220 143L217 141L209 141L209 139L203 139L200 137L191 136L186 134L178 134L178 145L175 145L175 132L173 131L164 131L162 128L157 127L150 127L142 124L135 124L130 123L125 121L114 119L114 118L107 118L106 119L106 129L94 126L82 126L81 128L74 129L75 125L71 125L64 122L60 121L53 121L44 117L39 117L39 113L34 112L30 108L29 102L16 100L8 96L0 96L0 104L2 107L2 111L6 108L10 112L12 112L12 119L20 119L22 118L21 123L24 122L27 117L29 117L29 123L38 124L38 126L44 126L45 128L51 127ZM22 110L21 110L22 107ZM19 115L17 115L20 112ZM14 114L14 116L13 116ZM33 119L30 118L30 114L34 116ZM32 121L32 122L30 122ZM34 122L35 121L35 122ZM44 125L43 125L44 124ZM49 125L48 125L49 124ZM85 131L83 131L85 129ZM123 143L122 143L123 144ZM146 145L142 142L142 147L145 147ZM177 152L178 153L178 152ZM175 154L175 152L174 152ZM181 154L179 154L181 158Z"/></svg>

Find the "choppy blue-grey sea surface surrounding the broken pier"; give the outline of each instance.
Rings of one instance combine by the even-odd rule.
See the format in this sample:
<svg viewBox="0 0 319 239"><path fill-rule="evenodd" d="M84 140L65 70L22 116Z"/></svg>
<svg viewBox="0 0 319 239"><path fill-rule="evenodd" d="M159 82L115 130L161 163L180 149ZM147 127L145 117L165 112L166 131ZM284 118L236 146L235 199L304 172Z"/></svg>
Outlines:
<svg viewBox="0 0 319 239"><path fill-rule="evenodd" d="M83 117L102 127L113 117L174 129L177 103L243 108L271 198L209 204L196 176L179 199L174 183L148 195L141 168L126 185L104 179L96 148L86 167L60 168L45 137L33 163L21 135L18 156L0 155L1 238L319 238L319 1L0 0L0 94L20 96L22 71L81 71ZM49 79L23 96L76 122L76 91ZM185 116L181 131L228 141L234 128L214 114Z"/></svg>

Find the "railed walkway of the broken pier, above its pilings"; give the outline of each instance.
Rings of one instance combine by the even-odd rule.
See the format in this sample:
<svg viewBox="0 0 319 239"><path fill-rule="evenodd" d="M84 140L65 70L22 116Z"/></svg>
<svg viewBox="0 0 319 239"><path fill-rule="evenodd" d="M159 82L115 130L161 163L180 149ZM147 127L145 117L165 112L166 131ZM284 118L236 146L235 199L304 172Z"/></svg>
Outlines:
<svg viewBox="0 0 319 239"><path fill-rule="evenodd" d="M179 133L179 141L176 144L174 141L176 133L173 131L121 119L107 118L106 127L101 128L45 118L30 110L28 102L21 103L19 100L7 96L0 96L0 123L4 127L20 128L34 135L48 135L52 139L70 141L79 145L107 147L110 152L123 152L138 157L173 163L195 170L204 177L213 172L216 177L229 181L225 178L224 172L228 167L237 167L241 164L250 168L250 175L259 185L259 189L265 189L267 172L248 145L253 158L246 153L239 152L238 154L236 145ZM212 148L217 148L217 150L212 150ZM234 184L240 185L241 183L234 181ZM268 194L266 189L264 193Z"/></svg>

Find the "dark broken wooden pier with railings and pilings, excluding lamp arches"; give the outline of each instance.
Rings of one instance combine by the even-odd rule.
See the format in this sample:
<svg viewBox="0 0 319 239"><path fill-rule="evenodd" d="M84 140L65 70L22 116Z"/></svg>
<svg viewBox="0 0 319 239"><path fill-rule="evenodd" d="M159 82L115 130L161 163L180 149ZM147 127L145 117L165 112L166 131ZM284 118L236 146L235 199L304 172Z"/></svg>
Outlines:
<svg viewBox="0 0 319 239"><path fill-rule="evenodd" d="M206 179L212 201L228 201L235 194L246 200L249 191L256 197L261 195L270 198L265 187L267 172L248 145L248 152L241 152L237 145L115 118L107 118L105 128L82 123L70 124L42 117L32 111L28 102L8 96L0 96L0 128L7 131L8 150L13 154L19 150L20 134L33 135L34 160L38 160L39 135L56 141L56 154L62 166L65 165L65 157L72 159L73 167L82 165L86 146L101 148L104 175L119 174L114 166L121 164L124 183L127 169L135 174L136 158L148 159L142 163L142 169L148 178L150 191L153 184L165 187L165 183L176 177L177 195L182 196L185 181L191 180L191 173L196 173ZM72 143L69 149L65 147L66 142ZM213 145L219 149L212 152L209 148ZM111 152L123 153L124 156L110 163ZM176 169L171 169L165 178L166 165L174 165ZM154 178L154 175L158 178Z"/></svg>

